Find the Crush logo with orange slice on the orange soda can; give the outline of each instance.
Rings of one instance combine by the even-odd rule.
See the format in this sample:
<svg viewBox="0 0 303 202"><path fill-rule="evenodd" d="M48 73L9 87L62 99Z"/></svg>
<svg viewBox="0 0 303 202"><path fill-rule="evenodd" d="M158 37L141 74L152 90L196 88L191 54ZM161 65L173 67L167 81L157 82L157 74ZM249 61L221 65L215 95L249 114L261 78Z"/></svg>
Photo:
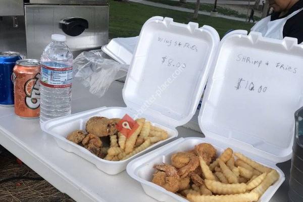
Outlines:
<svg viewBox="0 0 303 202"><path fill-rule="evenodd" d="M26 106L32 110L37 109L40 106L40 73L26 81L24 92Z"/></svg>

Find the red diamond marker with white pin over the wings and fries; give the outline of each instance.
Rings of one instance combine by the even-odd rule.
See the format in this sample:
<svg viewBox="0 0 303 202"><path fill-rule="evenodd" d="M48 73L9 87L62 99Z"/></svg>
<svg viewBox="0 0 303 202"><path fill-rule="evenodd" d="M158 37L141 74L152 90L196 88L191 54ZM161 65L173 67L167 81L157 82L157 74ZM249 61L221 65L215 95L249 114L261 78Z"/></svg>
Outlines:
<svg viewBox="0 0 303 202"><path fill-rule="evenodd" d="M116 125L117 130L127 138L129 138L138 127L139 124L127 114Z"/></svg>

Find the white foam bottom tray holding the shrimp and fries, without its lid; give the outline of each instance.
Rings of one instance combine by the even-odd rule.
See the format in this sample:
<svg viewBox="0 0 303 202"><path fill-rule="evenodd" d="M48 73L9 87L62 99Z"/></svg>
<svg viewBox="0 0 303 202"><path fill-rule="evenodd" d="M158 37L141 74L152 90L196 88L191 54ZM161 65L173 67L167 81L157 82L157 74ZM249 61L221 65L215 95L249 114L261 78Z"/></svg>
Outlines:
<svg viewBox="0 0 303 202"><path fill-rule="evenodd" d="M161 186L158 186L151 182L153 179L153 174L155 173L154 166L159 164L171 164L171 156L179 151L188 151L194 148L195 145L200 143L211 143L217 149L217 155L223 153L224 149L227 147L233 148L234 152L240 152L252 160L258 161L259 163L268 166L270 168L276 169L280 175L279 180L273 184L259 199L259 202L269 201L274 193L281 186L285 180L284 173L273 163L266 159L256 157L254 154L249 154L245 150L240 148L235 148L234 145L229 145L226 142L213 142L213 139L199 138L199 137L187 137L179 138L169 144L166 144L158 149L155 149L151 153L148 153L142 157L131 161L127 165L127 173L141 183L145 193L159 201L166 202L187 202L185 198L167 191ZM222 201L223 202L223 201Z"/></svg>

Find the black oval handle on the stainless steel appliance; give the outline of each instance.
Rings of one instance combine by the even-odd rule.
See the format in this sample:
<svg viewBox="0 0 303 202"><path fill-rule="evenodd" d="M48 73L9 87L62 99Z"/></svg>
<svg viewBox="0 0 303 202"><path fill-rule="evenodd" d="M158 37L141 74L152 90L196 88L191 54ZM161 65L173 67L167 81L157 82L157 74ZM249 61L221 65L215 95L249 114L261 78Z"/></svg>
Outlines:
<svg viewBox="0 0 303 202"><path fill-rule="evenodd" d="M88 21L84 18L64 18L59 22L59 28L69 36L79 36L88 29Z"/></svg>

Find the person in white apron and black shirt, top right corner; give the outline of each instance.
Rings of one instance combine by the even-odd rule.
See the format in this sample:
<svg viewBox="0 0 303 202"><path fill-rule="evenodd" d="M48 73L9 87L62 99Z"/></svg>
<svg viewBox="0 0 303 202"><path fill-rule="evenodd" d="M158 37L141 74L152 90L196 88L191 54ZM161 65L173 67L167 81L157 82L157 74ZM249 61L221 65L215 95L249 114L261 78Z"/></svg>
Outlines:
<svg viewBox="0 0 303 202"><path fill-rule="evenodd" d="M260 20L251 31L275 39L294 37L303 42L303 0L269 0L274 13Z"/></svg>

